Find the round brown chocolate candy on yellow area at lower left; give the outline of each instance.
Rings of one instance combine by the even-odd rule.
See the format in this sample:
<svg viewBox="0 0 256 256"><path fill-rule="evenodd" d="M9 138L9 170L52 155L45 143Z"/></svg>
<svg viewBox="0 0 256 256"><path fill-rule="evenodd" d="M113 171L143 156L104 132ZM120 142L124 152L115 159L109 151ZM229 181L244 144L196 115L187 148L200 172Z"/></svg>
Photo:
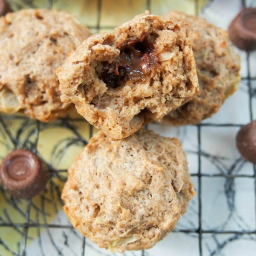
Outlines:
<svg viewBox="0 0 256 256"><path fill-rule="evenodd" d="M0 179L11 195L31 198L44 189L48 172L33 152L17 149L3 159L0 165Z"/></svg>

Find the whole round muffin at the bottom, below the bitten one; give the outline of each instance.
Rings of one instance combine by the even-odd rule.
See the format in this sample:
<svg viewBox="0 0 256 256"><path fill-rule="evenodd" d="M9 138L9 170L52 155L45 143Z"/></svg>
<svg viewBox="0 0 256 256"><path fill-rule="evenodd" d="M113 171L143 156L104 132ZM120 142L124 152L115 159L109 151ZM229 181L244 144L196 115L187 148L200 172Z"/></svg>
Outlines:
<svg viewBox="0 0 256 256"><path fill-rule="evenodd" d="M123 252L153 247L193 195L179 140L141 129L122 141L94 135L69 168L62 199L74 228Z"/></svg>

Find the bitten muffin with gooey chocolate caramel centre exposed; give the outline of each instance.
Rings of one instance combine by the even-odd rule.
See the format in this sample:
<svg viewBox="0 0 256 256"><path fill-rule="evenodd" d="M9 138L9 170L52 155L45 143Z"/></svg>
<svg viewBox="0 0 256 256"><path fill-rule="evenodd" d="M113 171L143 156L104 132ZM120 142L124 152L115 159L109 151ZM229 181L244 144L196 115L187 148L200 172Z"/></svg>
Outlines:
<svg viewBox="0 0 256 256"><path fill-rule="evenodd" d="M85 40L57 75L61 100L114 139L160 121L198 92L189 30L148 13Z"/></svg>

